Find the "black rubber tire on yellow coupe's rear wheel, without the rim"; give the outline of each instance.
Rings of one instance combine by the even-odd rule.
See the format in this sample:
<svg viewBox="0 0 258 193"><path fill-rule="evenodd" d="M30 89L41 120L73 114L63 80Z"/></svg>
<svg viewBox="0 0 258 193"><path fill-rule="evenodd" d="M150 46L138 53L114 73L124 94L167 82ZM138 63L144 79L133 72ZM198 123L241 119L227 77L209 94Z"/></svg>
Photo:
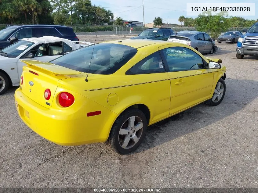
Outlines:
<svg viewBox="0 0 258 193"><path fill-rule="evenodd" d="M133 145L131 148L123 148L120 144L122 143L122 140L125 141L125 138L129 137L130 134L128 134L128 136L127 136L127 134L121 136L121 134L119 134L119 131L122 128L122 126L124 126L125 124L129 124L128 120L132 116L135 116L135 121L137 121L136 119L139 118L143 124L143 127L142 127L142 129L136 131L135 133L133 132L132 129L129 129L128 132L133 132L132 134L136 135L137 132L141 131L141 135L139 137L139 141L137 141L135 143L135 145ZM126 123L127 121L128 121L128 123ZM129 127L129 125L125 125L125 126ZM138 146L141 144L141 142L143 141L144 135L146 133L146 129L147 129L147 120L146 120L146 116L144 115L144 113L139 109L130 108L128 110L125 110L123 113L121 113L121 115L118 116L117 120L114 122L114 125L111 128L111 131L109 133L109 137L106 141L106 144L114 152L117 152L122 155L129 154L129 153L135 151L138 148ZM121 139L120 137L123 137L123 136L125 138ZM131 135L131 137L132 137L132 135ZM128 142L128 145L130 143L131 144L134 143L133 138L130 139L130 141Z"/></svg>

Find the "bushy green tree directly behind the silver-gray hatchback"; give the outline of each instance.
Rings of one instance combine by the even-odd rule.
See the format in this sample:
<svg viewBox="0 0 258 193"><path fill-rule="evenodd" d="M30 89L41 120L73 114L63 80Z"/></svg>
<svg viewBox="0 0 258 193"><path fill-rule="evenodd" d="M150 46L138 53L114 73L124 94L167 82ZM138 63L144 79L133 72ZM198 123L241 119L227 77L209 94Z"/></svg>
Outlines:
<svg viewBox="0 0 258 193"><path fill-rule="evenodd" d="M227 31L229 28L228 19L218 13L212 16L208 14L200 14L195 18L195 27L198 31L205 31L210 34L212 38L217 38L221 32Z"/></svg>

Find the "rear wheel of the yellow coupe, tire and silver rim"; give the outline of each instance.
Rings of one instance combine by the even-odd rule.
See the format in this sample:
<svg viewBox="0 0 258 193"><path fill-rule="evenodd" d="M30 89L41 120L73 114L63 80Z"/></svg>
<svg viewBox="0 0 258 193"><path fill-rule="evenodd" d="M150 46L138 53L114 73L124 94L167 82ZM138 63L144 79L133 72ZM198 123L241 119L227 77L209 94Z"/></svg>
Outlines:
<svg viewBox="0 0 258 193"><path fill-rule="evenodd" d="M139 109L128 109L114 122L106 143L114 152L129 154L141 144L146 129L144 113Z"/></svg>

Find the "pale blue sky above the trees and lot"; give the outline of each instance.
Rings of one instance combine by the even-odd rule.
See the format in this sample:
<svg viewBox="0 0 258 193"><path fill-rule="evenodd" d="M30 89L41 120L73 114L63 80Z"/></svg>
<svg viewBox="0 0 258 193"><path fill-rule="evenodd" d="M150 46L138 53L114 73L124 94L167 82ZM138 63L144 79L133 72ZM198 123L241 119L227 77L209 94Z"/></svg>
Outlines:
<svg viewBox="0 0 258 193"><path fill-rule="evenodd" d="M123 20L143 21L142 0L91 0L93 5L110 9L114 18L122 17ZM180 24L179 16L196 18L186 15L186 3L256 3L255 16L241 16L245 19L258 19L258 0L144 0L144 20L151 23L154 17L160 16L164 23ZM219 4L218 4L219 5ZM121 7L120 7L121 6ZM126 7L127 6L127 7ZM136 6L136 7L129 7Z"/></svg>

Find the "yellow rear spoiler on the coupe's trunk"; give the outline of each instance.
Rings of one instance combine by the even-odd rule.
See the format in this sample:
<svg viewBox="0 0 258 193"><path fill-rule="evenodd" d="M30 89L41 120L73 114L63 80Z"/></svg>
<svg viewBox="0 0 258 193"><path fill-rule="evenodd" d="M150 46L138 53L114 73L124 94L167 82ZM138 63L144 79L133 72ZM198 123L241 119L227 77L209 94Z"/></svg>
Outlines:
<svg viewBox="0 0 258 193"><path fill-rule="evenodd" d="M27 66L36 66L39 69L46 70L55 75L73 75L73 74L81 74L81 72L72 70L63 66L58 66L56 64L51 64L48 62L40 62L38 60L21 60L27 64Z"/></svg>

